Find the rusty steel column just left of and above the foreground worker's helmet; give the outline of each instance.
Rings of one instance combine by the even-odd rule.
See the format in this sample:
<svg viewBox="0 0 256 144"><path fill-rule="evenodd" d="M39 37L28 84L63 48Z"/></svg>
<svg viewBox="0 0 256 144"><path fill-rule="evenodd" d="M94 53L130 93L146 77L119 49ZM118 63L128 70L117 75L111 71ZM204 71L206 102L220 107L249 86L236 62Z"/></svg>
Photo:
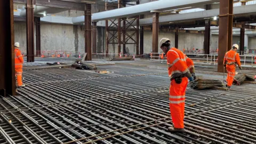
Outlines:
<svg viewBox="0 0 256 144"><path fill-rule="evenodd" d="M152 23L152 52L158 53L158 34L159 34L159 13L153 13L153 23Z"/></svg>

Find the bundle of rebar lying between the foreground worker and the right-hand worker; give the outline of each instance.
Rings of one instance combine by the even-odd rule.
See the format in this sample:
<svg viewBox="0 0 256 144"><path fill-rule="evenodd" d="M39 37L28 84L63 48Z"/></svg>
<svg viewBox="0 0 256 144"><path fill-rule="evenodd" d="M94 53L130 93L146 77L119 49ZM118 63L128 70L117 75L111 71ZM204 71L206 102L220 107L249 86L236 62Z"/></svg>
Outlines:
<svg viewBox="0 0 256 144"><path fill-rule="evenodd" d="M211 87L223 87L225 83L218 79L206 79L203 77L197 77L195 81L190 82L191 89L209 89Z"/></svg>

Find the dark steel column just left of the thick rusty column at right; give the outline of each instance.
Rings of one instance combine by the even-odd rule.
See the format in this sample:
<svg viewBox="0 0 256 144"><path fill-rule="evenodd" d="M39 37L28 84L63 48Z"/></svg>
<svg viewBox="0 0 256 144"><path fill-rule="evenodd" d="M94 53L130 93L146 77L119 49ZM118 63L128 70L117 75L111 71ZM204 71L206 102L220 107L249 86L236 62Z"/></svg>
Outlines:
<svg viewBox="0 0 256 144"><path fill-rule="evenodd" d="M210 35L211 35L211 22L210 22L210 19L206 19L205 31L204 31L204 54L210 54Z"/></svg>

